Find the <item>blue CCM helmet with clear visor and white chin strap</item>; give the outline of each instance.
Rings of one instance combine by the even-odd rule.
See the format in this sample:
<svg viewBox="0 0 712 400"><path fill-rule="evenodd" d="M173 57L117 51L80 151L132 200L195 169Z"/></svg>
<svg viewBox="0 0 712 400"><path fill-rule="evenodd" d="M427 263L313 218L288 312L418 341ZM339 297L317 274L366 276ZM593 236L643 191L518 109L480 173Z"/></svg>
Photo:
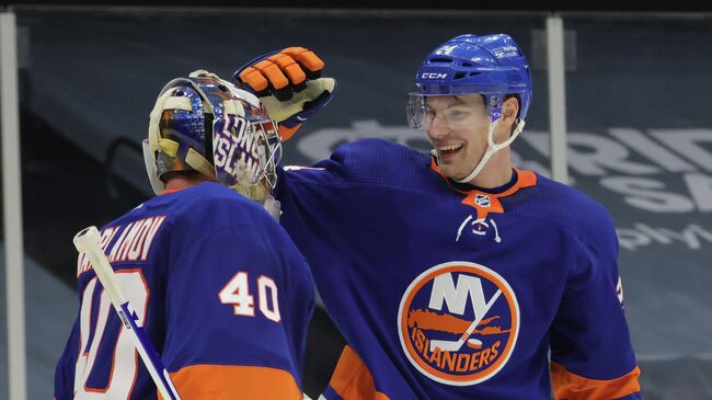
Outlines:
<svg viewBox="0 0 712 400"><path fill-rule="evenodd" d="M524 54L508 35L461 35L445 42L425 57L415 83L418 90L409 94L406 108L411 128L428 130L436 122L450 129L487 127L487 149L458 182L472 181L490 158L524 129L531 78ZM437 100L440 96L451 98L452 106L436 113L432 105L443 103ZM519 114L509 137L495 142L495 127L508 96L517 98Z"/></svg>

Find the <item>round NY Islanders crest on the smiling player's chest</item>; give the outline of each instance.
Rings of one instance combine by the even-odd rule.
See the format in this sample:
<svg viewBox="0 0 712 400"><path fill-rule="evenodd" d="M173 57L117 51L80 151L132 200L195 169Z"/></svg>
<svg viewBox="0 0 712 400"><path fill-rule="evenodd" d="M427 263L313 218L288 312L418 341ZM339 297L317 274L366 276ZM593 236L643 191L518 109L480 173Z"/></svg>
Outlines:
<svg viewBox="0 0 712 400"><path fill-rule="evenodd" d="M403 294L398 329L403 352L422 374L468 386L493 377L519 333L519 306L494 271L449 262L422 273Z"/></svg>

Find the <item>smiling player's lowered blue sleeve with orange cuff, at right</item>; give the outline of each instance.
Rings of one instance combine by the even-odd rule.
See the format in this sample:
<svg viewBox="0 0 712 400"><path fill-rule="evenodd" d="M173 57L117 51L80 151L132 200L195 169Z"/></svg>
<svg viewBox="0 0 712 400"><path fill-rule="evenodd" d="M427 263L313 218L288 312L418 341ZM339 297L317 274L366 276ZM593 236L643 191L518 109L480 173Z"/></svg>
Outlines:
<svg viewBox="0 0 712 400"><path fill-rule="evenodd" d="M641 399L635 355L625 321L618 239L610 216L578 233L551 329L551 378L555 399Z"/></svg>

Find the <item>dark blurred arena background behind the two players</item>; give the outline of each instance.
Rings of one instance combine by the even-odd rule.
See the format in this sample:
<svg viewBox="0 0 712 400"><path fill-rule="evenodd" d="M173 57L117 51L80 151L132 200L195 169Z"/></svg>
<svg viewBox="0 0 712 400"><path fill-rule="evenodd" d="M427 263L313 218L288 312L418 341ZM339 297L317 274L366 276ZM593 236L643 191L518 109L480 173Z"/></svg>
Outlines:
<svg viewBox="0 0 712 400"><path fill-rule="evenodd" d="M616 219L645 399L712 399L710 10L685 2L646 10L553 1L540 9L524 1L445 2L439 9L208 3L214 7L5 7L3 19L12 15L16 27L8 33L4 20L0 42L16 36L20 152L2 160L3 190L12 192L3 193L3 202L13 208L4 214L0 243L9 255L0 259L0 399L11 399L13 385L14 393L26 386L26 399L51 398L55 363L78 305L71 238L152 195L140 141L168 80L198 68L227 78L254 56L309 47L326 61L338 89L286 144L287 163L309 164L370 136L426 151L425 138L405 123L405 94L422 57L457 34L499 32L522 46L533 71L535 98L513 146L515 160L555 176L551 126L565 121L565 146L560 141L559 148L567 161L559 176ZM563 22L565 80L558 82L548 68L552 16ZM3 66L12 58L7 48ZM3 110L12 111L4 82ZM550 88L565 88L565 96L556 98L565 106L551 108ZM12 145L11 116L0 116L5 149ZM15 161L19 170L12 169ZM9 181L13 176L20 181ZM13 198L21 198L21 207ZM8 332L21 332L24 343ZM323 309L308 345L305 390L318 396L343 346ZM16 354L26 355L21 364ZM18 365L24 373L13 369ZM16 396L12 400L25 399Z"/></svg>

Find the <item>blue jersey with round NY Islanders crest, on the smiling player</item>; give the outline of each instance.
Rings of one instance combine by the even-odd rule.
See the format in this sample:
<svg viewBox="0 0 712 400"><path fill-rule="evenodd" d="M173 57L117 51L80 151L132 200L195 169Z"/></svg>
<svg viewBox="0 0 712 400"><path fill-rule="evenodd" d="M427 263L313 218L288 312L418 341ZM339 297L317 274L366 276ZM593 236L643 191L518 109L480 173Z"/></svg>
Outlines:
<svg viewBox="0 0 712 400"><path fill-rule="evenodd" d="M530 171L457 184L380 139L280 174L282 224L348 343L324 398L640 399L593 199Z"/></svg>

